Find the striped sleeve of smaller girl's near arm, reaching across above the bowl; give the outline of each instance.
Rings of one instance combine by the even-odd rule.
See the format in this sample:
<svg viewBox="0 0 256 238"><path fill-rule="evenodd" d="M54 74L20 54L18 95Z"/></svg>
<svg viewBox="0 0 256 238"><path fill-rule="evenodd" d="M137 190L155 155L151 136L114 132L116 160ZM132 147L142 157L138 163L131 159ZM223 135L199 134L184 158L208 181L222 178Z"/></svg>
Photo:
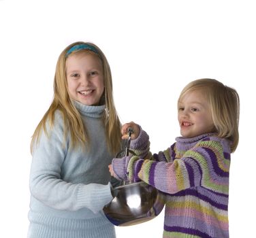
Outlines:
<svg viewBox="0 0 256 238"><path fill-rule="evenodd" d="M195 186L228 194L230 155L224 148L227 148L226 141L214 137L199 141L173 162L134 156L127 163L127 170L131 178L138 177L169 194Z"/></svg>

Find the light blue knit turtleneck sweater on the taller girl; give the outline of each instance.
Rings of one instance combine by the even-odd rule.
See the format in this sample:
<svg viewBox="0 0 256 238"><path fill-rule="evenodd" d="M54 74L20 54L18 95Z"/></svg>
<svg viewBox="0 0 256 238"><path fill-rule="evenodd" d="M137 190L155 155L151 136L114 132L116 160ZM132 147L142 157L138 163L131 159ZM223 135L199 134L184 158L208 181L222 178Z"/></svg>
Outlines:
<svg viewBox="0 0 256 238"><path fill-rule="evenodd" d="M34 146L31 164L29 238L114 238L114 226L102 208L112 200L108 152L101 116L105 106L74 102L89 133L90 149L72 149L63 140L57 111Z"/></svg>

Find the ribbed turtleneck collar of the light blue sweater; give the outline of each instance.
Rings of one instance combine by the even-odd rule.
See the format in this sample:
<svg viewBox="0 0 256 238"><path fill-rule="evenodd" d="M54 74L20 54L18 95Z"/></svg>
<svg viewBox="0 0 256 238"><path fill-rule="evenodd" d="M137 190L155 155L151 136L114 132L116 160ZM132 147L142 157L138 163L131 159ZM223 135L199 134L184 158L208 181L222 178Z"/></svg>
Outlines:
<svg viewBox="0 0 256 238"><path fill-rule="evenodd" d="M83 116L88 116L90 118L101 118L103 112L105 112L106 105L99 105L99 106L89 106L84 105L78 101L73 101L76 109L82 114Z"/></svg>

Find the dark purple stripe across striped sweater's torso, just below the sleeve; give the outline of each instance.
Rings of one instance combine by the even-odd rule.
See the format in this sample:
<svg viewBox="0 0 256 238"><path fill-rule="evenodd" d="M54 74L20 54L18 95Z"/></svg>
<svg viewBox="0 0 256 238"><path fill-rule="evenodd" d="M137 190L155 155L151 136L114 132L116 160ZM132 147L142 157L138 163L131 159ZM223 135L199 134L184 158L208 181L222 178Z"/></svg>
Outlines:
<svg viewBox="0 0 256 238"><path fill-rule="evenodd" d="M205 201L206 203L210 203L210 205L217 207L218 209L223 209L224 211L227 211L227 205L217 203L216 201L210 199L210 197L198 192L198 190L196 189L188 188L185 190L181 190L180 192L177 192L175 194L172 194L173 197L183 197L187 195L198 197L199 199ZM224 196L224 194L221 195Z"/></svg>

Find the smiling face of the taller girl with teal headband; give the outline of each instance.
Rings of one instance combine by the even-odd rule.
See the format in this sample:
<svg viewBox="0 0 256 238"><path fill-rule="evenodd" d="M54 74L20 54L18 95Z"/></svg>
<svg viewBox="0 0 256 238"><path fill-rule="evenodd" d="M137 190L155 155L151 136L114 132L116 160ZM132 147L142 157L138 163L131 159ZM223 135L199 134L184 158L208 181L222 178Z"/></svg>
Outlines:
<svg viewBox="0 0 256 238"><path fill-rule="evenodd" d="M99 105L104 92L103 66L94 54L74 54L66 61L67 87L71 99Z"/></svg>

